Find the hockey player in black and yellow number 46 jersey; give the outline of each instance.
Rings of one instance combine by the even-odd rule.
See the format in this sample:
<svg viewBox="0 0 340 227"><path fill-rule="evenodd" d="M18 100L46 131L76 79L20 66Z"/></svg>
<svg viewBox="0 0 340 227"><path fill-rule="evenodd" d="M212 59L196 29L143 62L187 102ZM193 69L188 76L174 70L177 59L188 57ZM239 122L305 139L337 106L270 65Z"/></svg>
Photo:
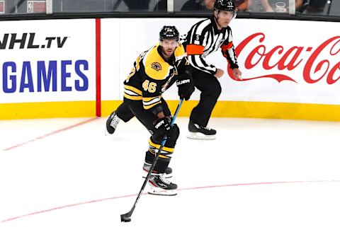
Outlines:
<svg viewBox="0 0 340 227"><path fill-rule="evenodd" d="M179 43L178 30L174 26L164 26L159 33L159 43L137 57L124 81L125 107L152 134L143 170L149 171L164 136L168 138L149 178L150 194L176 194L177 185L169 180L172 170L168 165L179 137L179 127L171 126L171 112L162 98L162 93L174 82L180 98L188 100L194 90L191 67Z"/></svg>

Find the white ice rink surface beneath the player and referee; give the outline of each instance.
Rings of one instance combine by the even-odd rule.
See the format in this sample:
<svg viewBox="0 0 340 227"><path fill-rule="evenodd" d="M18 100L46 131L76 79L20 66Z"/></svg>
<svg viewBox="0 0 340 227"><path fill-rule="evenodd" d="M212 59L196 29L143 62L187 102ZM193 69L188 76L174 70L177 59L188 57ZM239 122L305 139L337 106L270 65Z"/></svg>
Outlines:
<svg viewBox="0 0 340 227"><path fill-rule="evenodd" d="M197 141L179 117L178 194L143 194L130 223L149 133L105 122L1 120L0 226L340 226L340 122L212 118Z"/></svg>

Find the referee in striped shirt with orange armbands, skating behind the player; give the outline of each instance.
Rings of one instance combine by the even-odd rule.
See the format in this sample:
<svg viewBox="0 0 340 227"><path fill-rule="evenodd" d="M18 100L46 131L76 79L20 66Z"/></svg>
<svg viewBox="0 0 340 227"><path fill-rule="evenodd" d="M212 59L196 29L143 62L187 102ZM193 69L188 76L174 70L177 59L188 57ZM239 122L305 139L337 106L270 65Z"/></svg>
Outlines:
<svg viewBox="0 0 340 227"><path fill-rule="evenodd" d="M217 78L224 71L206 62L212 52L222 50L223 56L228 60L232 73L236 79L242 79L239 71L237 57L234 50L230 21L236 16L233 0L217 0L214 4L213 15L199 21L191 27L181 42L186 48L188 60L193 70L193 82L201 92L200 100L193 108L188 124L189 139L215 139L216 130L207 127L210 115L220 97L221 86ZM115 112L111 113L106 122L107 134L113 134L120 120L128 122L133 117L130 110L123 103Z"/></svg>

